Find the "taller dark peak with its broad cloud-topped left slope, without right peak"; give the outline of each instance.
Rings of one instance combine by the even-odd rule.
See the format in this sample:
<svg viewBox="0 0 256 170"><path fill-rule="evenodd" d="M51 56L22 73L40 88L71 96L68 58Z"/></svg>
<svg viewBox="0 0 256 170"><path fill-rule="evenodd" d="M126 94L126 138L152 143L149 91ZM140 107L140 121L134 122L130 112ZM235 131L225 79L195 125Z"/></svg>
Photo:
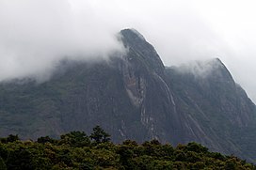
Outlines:
<svg viewBox="0 0 256 170"><path fill-rule="evenodd" d="M122 57L96 63L68 61L65 69L61 66L62 71L40 85L2 84L0 115L6 126L1 135L56 136L65 131L90 132L99 124L115 142L170 141L168 131L179 130L182 122L163 79L164 65L135 30L122 30L120 36L129 49Z"/></svg>

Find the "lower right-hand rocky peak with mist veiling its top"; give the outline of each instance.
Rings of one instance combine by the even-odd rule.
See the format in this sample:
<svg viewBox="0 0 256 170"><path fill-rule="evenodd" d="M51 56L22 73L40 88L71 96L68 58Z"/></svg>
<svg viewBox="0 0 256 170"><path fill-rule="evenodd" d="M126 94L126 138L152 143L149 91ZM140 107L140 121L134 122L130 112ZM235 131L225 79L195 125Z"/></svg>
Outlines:
<svg viewBox="0 0 256 170"><path fill-rule="evenodd" d="M169 68L167 74L178 112L193 117L208 139L192 135L188 141L196 140L213 150L242 156L248 148L241 143L250 142L241 135L255 127L255 105L235 84L223 63L216 58ZM190 132L198 134L193 129Z"/></svg>

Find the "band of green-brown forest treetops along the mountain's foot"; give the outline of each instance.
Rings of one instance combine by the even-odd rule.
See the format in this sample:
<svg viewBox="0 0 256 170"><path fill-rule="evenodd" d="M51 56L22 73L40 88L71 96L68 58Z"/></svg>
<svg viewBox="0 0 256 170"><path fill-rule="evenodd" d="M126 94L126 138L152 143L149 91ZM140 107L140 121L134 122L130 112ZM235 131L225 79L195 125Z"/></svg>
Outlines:
<svg viewBox="0 0 256 170"><path fill-rule="evenodd" d="M162 145L157 140L110 142L110 135L97 126L88 136L72 131L53 139L21 141L9 135L0 141L0 169L256 169L235 156L210 152L197 143Z"/></svg>

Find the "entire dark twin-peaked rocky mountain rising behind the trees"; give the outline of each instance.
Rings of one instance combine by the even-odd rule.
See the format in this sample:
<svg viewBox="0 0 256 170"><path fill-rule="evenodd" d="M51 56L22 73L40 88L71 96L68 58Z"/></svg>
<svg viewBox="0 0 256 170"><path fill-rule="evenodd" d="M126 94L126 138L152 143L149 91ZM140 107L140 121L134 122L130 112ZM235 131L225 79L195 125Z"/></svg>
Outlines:
<svg viewBox="0 0 256 170"><path fill-rule="evenodd" d="M127 53L95 63L67 62L42 84L0 85L0 135L22 138L86 131L114 142L200 142L256 160L255 105L219 59L166 68L136 30L120 31Z"/></svg>

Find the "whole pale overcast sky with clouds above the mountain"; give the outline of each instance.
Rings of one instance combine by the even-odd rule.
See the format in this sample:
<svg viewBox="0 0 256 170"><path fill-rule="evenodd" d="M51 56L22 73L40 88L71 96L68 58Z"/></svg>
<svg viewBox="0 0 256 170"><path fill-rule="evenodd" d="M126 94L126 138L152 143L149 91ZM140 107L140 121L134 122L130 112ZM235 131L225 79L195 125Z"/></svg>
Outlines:
<svg viewBox="0 0 256 170"><path fill-rule="evenodd" d="M63 57L122 50L136 28L165 65L219 57L256 101L253 0L0 0L0 81L47 77Z"/></svg>

